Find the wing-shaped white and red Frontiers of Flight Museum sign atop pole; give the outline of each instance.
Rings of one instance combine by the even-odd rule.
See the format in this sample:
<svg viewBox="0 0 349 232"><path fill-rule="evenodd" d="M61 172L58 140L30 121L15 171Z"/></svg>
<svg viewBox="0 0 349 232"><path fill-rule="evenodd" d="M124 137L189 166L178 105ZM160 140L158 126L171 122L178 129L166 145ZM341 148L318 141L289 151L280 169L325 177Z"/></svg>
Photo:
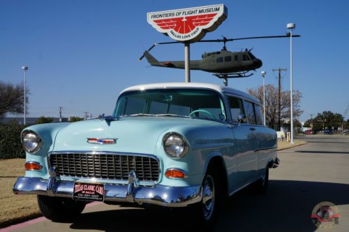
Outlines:
<svg viewBox="0 0 349 232"><path fill-rule="evenodd" d="M193 43L214 31L227 16L228 9L220 4L147 13L147 21L175 41Z"/></svg>

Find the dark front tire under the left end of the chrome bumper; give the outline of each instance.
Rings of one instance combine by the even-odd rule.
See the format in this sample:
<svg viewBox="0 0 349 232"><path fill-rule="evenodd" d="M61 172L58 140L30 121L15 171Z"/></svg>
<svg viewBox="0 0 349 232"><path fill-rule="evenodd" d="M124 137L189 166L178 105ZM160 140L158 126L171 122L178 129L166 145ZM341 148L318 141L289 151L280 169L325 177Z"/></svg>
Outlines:
<svg viewBox="0 0 349 232"><path fill-rule="evenodd" d="M86 202L70 198L40 196L38 206L41 213L53 222L71 222L80 216Z"/></svg>

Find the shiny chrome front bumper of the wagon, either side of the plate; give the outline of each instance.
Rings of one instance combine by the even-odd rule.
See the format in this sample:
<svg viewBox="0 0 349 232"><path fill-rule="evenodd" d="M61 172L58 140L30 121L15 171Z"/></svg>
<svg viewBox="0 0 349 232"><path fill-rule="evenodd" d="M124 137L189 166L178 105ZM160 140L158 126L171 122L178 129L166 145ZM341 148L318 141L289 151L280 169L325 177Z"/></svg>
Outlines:
<svg viewBox="0 0 349 232"><path fill-rule="evenodd" d="M128 175L128 184L105 183L104 201L149 203L167 207L185 207L202 199L202 187L168 187L161 184L138 186L134 172ZM15 194L38 194L73 198L74 182L60 180L50 168L50 178L18 177L13 192Z"/></svg>

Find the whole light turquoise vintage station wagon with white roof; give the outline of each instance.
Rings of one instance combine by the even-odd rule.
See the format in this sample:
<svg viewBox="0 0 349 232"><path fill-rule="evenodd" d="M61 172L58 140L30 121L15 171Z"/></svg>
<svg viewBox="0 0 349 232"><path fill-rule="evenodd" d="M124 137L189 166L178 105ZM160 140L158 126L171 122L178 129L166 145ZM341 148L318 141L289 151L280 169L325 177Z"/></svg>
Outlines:
<svg viewBox="0 0 349 232"><path fill-rule="evenodd" d="M39 124L22 131L26 173L15 194L37 194L45 217L80 215L89 201L190 206L211 224L217 205L249 184L267 190L276 132L260 103L230 87L138 85L112 116Z"/></svg>

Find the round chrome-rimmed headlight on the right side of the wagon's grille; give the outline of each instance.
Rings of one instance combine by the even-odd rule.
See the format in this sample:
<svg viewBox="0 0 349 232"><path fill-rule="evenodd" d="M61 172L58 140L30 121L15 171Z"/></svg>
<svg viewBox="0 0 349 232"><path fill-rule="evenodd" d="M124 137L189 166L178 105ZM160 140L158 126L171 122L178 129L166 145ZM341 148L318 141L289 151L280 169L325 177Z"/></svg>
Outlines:
<svg viewBox="0 0 349 232"><path fill-rule="evenodd" d="M188 151L188 144L178 133L167 133L163 137L163 149L170 157L179 158Z"/></svg>

